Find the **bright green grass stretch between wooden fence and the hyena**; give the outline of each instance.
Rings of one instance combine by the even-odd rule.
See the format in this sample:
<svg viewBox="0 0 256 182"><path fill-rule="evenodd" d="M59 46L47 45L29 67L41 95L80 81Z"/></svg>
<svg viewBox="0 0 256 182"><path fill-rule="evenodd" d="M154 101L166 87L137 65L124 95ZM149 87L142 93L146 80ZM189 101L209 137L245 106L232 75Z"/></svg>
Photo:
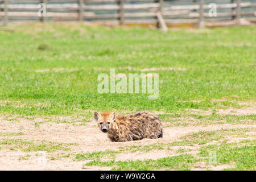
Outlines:
<svg viewBox="0 0 256 182"><path fill-rule="evenodd" d="M15 27L13 34L1 31L0 36L0 98L27 106L23 109L1 106L2 112L28 115L72 114L82 109L176 112L237 106L232 95L240 97L236 101L251 101L256 97L255 26L170 31L165 35L146 28L54 24L47 28L36 24ZM160 97L154 101L147 100L144 94L97 93L99 73L110 74L110 68L119 68L117 73L128 73L127 67L174 67L186 71L160 72L159 80L163 81L159 85ZM56 68L61 69L52 71ZM209 102L225 96L229 98L223 103Z"/></svg>

